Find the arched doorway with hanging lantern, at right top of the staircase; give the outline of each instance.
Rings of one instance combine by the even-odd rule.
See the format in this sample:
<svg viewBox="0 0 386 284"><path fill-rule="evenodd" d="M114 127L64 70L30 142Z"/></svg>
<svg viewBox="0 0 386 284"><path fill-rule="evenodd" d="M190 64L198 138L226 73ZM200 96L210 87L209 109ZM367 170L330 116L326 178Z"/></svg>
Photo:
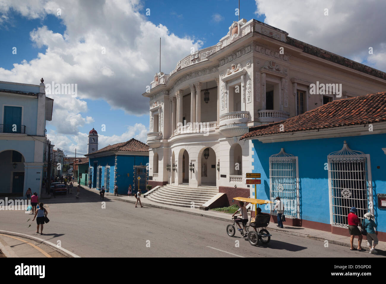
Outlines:
<svg viewBox="0 0 386 284"><path fill-rule="evenodd" d="M203 148L198 155L198 168L201 180L199 185L216 186L217 182L217 160L215 151L210 148Z"/></svg>

